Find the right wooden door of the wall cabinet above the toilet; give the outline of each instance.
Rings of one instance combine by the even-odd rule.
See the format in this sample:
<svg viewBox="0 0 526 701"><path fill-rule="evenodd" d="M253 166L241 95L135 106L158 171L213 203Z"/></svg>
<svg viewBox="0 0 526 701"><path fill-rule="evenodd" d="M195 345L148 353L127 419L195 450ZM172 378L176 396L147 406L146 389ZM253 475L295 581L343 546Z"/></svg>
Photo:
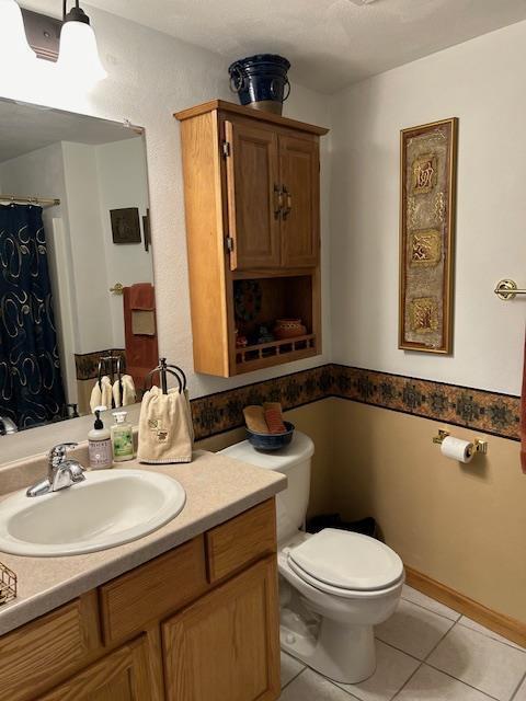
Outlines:
<svg viewBox="0 0 526 701"><path fill-rule="evenodd" d="M320 166L313 139L279 137L282 264L316 266L320 260Z"/></svg>

